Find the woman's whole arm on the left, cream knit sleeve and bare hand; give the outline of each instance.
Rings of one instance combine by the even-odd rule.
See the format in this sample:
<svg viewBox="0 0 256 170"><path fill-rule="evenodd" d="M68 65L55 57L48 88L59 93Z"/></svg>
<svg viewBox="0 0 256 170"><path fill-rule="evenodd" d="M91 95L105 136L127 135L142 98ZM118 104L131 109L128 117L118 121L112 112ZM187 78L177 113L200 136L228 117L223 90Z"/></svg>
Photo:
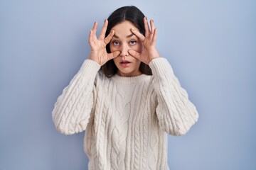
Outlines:
<svg viewBox="0 0 256 170"><path fill-rule="evenodd" d="M107 53L106 45L114 35L114 31L112 31L105 38L107 24L108 21L105 20L99 38L97 38L98 23L95 22L88 38L91 47L89 60L85 60L78 74L65 87L63 94L55 103L53 122L57 130L65 135L82 132L86 129L92 106L95 104L93 98L96 98L96 91L93 89L96 74L103 64L120 54L119 51Z"/></svg>

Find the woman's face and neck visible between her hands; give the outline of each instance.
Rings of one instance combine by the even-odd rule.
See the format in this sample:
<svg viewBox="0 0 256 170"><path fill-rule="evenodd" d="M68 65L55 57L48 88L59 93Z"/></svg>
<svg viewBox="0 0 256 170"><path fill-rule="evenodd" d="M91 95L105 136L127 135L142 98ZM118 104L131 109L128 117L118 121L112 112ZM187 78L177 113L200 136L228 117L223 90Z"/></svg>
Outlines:
<svg viewBox="0 0 256 170"><path fill-rule="evenodd" d="M117 24L111 30L114 30L114 36L110 41L110 51L120 51L120 55L114 58L114 64L117 66L117 74L122 77L134 77L142 74L139 71L141 62L129 55L128 50L142 52L142 42L131 32L134 28L138 30L129 21L123 21Z"/></svg>

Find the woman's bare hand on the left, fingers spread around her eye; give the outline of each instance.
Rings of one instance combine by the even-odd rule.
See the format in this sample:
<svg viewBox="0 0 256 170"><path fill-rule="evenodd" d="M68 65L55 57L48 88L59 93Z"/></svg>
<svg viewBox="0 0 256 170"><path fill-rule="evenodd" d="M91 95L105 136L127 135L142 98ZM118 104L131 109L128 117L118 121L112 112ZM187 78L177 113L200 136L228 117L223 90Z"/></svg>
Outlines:
<svg viewBox="0 0 256 170"><path fill-rule="evenodd" d="M97 32L98 23L95 22L92 30L90 30L90 35L89 35L89 44L91 47L91 51L88 59L97 62L101 66L105 64L107 61L112 60L113 58L117 57L120 54L119 51L107 53L106 45L110 43L110 40L114 35L114 30L112 30L110 34L107 35L107 37L105 38L107 24L108 24L108 21L105 20L105 23L102 27L99 38L97 38L96 32Z"/></svg>

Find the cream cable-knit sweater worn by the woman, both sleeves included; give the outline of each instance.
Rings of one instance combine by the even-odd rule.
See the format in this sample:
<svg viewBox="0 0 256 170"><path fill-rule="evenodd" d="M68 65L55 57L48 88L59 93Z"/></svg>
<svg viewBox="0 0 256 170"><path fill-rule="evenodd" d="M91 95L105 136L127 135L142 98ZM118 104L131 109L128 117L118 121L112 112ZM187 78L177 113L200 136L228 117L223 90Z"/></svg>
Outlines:
<svg viewBox="0 0 256 170"><path fill-rule="evenodd" d="M57 130L85 130L90 170L169 169L167 137L183 135L198 120L163 57L149 63L152 76L107 78L100 65L85 60L53 109Z"/></svg>

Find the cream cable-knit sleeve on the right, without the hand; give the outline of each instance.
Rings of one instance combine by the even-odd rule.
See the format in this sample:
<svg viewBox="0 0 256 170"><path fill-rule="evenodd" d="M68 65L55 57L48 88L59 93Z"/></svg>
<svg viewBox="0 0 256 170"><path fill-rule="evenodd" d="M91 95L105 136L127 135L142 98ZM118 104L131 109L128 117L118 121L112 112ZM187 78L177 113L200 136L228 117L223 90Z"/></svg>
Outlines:
<svg viewBox="0 0 256 170"><path fill-rule="evenodd" d="M198 120L196 107L175 77L169 62L161 57L149 63L154 77L158 105L156 115L161 129L171 135L184 135Z"/></svg>

